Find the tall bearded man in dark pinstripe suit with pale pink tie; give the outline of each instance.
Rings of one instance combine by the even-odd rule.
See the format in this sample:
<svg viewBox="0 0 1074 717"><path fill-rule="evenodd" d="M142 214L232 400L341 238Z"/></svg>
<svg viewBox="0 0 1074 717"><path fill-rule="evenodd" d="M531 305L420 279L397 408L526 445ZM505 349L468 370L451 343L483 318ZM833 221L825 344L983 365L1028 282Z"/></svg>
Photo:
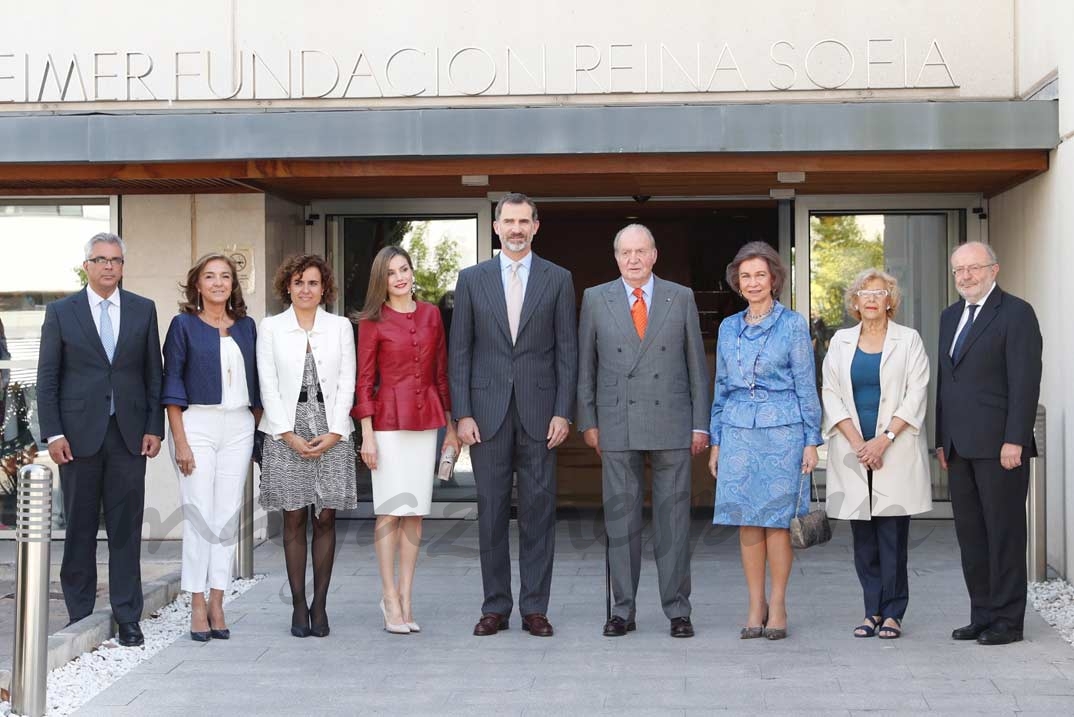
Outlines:
<svg viewBox="0 0 1074 717"><path fill-rule="evenodd" d="M459 437L477 483L484 603L476 635L506 630L512 610L508 528L518 472L522 629L550 636L555 550L555 453L569 430L578 378L570 273L531 251L537 207L524 194L496 204L500 254L455 286L449 376Z"/></svg>

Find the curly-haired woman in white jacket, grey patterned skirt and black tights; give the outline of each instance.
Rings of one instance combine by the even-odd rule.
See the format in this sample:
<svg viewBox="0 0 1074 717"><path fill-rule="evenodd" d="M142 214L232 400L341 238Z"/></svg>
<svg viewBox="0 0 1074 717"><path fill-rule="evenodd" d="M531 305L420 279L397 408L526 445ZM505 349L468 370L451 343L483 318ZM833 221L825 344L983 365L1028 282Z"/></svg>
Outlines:
<svg viewBox="0 0 1074 717"><path fill-rule="evenodd" d="M290 307L261 322L258 375L266 434L261 506L284 512L284 557L291 584L291 634L329 634L325 612L335 557L335 512L358 506L353 424L354 331L325 311L336 288L328 263L291 257L276 273ZM306 604L306 523L314 509L314 600Z"/></svg>

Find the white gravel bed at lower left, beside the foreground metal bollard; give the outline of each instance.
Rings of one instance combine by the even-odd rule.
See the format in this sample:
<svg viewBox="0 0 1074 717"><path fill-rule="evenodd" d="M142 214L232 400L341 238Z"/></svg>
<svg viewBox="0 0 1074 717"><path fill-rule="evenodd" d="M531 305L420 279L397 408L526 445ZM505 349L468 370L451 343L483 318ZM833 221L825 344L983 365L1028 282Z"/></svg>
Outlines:
<svg viewBox="0 0 1074 717"><path fill-rule="evenodd" d="M264 575L235 580L223 598L228 604L257 585ZM62 668L48 673L48 717L66 717L104 691L140 662L164 649L190 632L190 594L180 592L175 602L164 605L141 621L145 645L122 647L115 639L103 642L92 653L83 653ZM11 704L0 702L0 714L13 715Z"/></svg>

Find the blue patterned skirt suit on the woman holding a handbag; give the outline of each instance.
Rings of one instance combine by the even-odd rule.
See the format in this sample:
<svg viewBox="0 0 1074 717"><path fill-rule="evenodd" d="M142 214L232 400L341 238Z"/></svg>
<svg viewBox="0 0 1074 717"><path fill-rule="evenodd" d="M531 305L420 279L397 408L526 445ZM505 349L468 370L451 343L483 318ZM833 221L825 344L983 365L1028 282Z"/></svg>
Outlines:
<svg viewBox="0 0 1074 717"><path fill-rule="evenodd" d="M720 324L709 433L720 447L713 524L788 528L809 512L802 451L824 441L801 314L777 302L758 324L745 311Z"/></svg>

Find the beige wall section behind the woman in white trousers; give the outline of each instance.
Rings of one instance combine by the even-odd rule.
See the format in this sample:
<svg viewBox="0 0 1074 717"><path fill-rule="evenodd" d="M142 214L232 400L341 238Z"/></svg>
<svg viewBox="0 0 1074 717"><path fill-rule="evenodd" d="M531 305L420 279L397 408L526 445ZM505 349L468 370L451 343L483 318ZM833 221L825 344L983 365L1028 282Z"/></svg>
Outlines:
<svg viewBox="0 0 1074 717"><path fill-rule="evenodd" d="M157 303L161 342L177 312L178 283L193 260L209 251L249 247L255 260L253 291L246 293L250 316L265 311L265 203L261 194L127 195L120 204L128 246L125 288ZM143 537L182 537L178 479L165 443L146 470ZM257 515L259 531L264 514Z"/></svg>

